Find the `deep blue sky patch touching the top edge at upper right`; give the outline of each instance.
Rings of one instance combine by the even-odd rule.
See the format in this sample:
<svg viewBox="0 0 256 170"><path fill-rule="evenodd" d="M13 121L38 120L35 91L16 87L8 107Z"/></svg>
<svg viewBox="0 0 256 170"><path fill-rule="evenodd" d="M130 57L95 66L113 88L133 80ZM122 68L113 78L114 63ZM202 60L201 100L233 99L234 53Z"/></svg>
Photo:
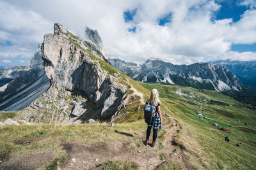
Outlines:
<svg viewBox="0 0 256 170"><path fill-rule="evenodd" d="M239 5L239 1L223 1L219 4L221 8L216 11L216 20L232 18L233 22L237 22L241 19L241 15L243 15L244 11L250 9L248 6Z"/></svg>

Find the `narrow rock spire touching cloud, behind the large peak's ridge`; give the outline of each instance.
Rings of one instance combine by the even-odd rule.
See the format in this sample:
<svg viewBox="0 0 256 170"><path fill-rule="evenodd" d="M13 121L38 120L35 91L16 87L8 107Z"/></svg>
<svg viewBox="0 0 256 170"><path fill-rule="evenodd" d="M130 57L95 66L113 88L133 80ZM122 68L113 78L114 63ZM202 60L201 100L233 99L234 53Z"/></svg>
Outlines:
<svg viewBox="0 0 256 170"><path fill-rule="evenodd" d="M97 30L93 31L93 29L86 27L85 38L86 42L89 43L89 45L92 45L92 48L94 48L94 50L98 50L104 57L104 59L108 60L108 55Z"/></svg>

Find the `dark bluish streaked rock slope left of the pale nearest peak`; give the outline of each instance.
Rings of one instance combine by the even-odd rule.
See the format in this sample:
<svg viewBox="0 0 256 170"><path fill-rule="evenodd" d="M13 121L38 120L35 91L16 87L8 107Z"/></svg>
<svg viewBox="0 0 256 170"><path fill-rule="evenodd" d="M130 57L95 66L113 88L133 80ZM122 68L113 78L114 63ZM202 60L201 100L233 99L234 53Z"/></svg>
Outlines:
<svg viewBox="0 0 256 170"><path fill-rule="evenodd" d="M0 92L0 110L14 111L26 108L50 87L45 74L41 50L37 50L29 66L21 69Z"/></svg>

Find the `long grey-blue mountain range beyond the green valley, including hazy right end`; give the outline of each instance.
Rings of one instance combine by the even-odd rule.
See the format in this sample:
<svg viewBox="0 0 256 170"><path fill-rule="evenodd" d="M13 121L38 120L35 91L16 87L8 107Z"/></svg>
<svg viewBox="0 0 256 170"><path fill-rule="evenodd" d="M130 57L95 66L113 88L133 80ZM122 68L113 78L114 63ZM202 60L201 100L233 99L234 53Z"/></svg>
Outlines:
<svg viewBox="0 0 256 170"><path fill-rule="evenodd" d="M116 69L123 71L134 80L148 83L182 85L196 89L217 90L228 96L235 97L239 101L253 105L256 104L256 91L250 89L248 84L243 84L239 77L232 73L231 69L228 69L228 67L236 69L236 67L241 66L240 71L243 74L240 73L239 75L243 75L243 78L245 77L248 80L248 77L251 76L250 78L252 78L255 76L255 74L250 74L252 73L251 70L254 69L255 71L255 66L253 67L252 65L253 62L248 62L249 64L247 63L247 65L246 62L241 62L242 64L240 65L236 65L239 62L234 62L233 65L225 62L228 67L223 65L224 62L218 61L191 65L174 65L170 62L154 58L148 59L140 66L120 59L110 59L109 62ZM247 76L249 74L250 76ZM253 84L253 81L250 82Z"/></svg>

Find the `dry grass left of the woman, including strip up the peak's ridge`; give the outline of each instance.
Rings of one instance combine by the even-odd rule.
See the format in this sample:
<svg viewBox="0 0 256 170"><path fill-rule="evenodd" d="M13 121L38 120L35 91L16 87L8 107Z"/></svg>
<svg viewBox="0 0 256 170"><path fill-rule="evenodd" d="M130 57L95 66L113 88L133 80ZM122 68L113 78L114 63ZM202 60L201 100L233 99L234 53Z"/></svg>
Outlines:
<svg viewBox="0 0 256 170"><path fill-rule="evenodd" d="M70 34L68 33L68 36L70 36L69 41L88 53L88 56L92 60L97 60L102 69L108 71L109 74L118 74L120 77L120 82L118 83L128 87L132 85L138 91L143 92L145 98L148 98L149 90L145 89L140 83L132 80L129 76L118 71L104 60L96 57L90 50L82 48L76 43L77 37ZM132 110L138 108L139 105L138 100L134 101L132 104L126 106L126 110L132 113ZM62 150L62 145L67 141L82 143L98 143L100 141L118 142L119 139L123 139L124 136L115 131L129 132L130 134L134 134L134 136L138 136L138 134L141 134L147 127L145 124L141 124L141 122L143 122L141 118L143 117L141 117L139 111L137 112L137 117L131 118L129 122L140 119L139 122L115 125L114 129L109 129L106 125L19 125L19 127L15 125L4 125L0 127L0 157L6 153L15 157L31 152L55 152L58 155L57 159L52 160L52 162L45 165L43 169L46 167L54 167L56 166L56 162L60 162L67 157L65 150ZM0 111L0 121L4 122L8 117L14 118L16 114L19 114L19 111ZM52 143L53 138L54 143ZM25 143L29 144L24 145Z"/></svg>

